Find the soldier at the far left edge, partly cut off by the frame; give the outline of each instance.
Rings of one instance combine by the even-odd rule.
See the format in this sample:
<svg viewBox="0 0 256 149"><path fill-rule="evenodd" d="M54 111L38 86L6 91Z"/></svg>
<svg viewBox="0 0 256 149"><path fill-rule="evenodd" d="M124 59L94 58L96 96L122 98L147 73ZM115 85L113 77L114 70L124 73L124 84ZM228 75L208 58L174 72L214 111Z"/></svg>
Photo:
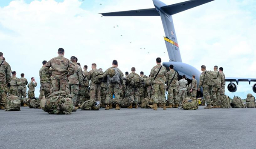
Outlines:
<svg viewBox="0 0 256 149"><path fill-rule="evenodd" d="M3 110L7 100L7 84L10 86L11 66L3 60L3 53L0 52L0 109Z"/></svg>

